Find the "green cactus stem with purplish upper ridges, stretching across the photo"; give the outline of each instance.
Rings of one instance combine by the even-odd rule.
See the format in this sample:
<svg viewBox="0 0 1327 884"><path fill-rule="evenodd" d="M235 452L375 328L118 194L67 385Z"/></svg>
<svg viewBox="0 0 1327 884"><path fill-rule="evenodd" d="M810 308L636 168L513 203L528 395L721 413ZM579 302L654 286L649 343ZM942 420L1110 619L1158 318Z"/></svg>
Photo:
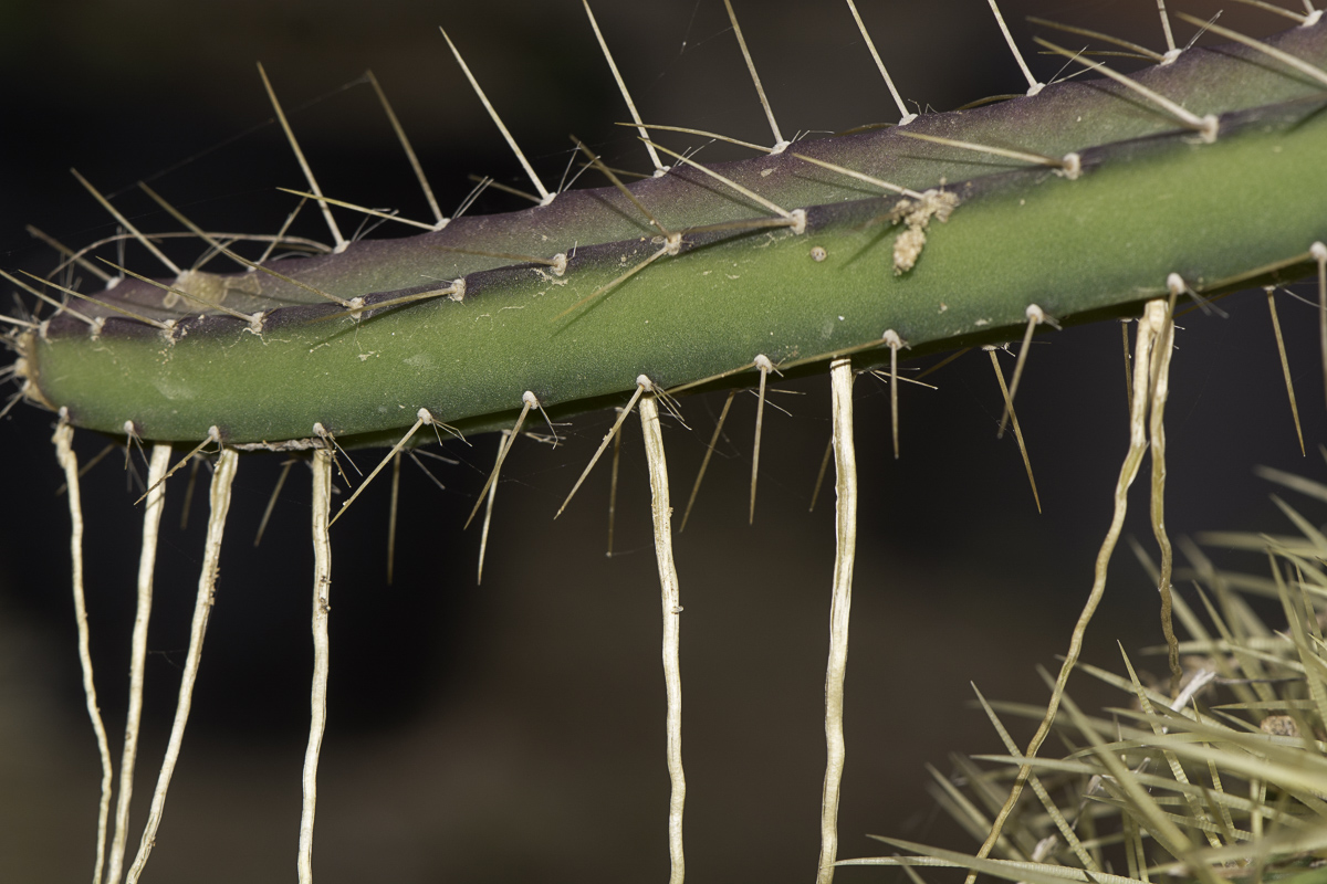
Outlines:
<svg viewBox="0 0 1327 884"><path fill-rule="evenodd" d="M1327 28L1275 41L1316 58ZM560 314L661 248L617 191L577 191L549 207L281 264L340 297L378 293L370 304L419 290L421 274L464 276L462 302L438 298L360 322L328 319L340 310L328 304L287 306L261 335L212 317L186 321L175 341L122 318L92 339L60 317L28 341L28 368L41 399L68 407L76 424L121 432L133 420L147 439L198 440L216 424L235 443L275 443L307 437L314 421L372 439L409 427L419 407L480 429L506 423L525 390L575 411L630 391L642 372L674 387L739 370L756 354L783 366L825 359L885 329L914 349L940 349L1009 337L1030 304L1070 321L1124 314L1165 292L1169 273L1213 290L1327 239L1319 85L1247 48L1186 53L1140 80L1197 113L1223 113L1217 143L1177 130L1117 85L1074 82L926 117L910 130L1050 155L1075 148L1085 167L1079 180L889 131L796 147L918 188L949 182L962 205L947 224L932 224L920 264L902 276L892 266L898 228L884 217L896 197L863 199L869 186L845 188L849 179L836 172L768 156L723 171L783 208L808 208L805 233L689 236L681 254L571 315ZM695 170L633 190L671 229L768 216ZM533 265L494 268L502 261L439 252L439 243L573 258L553 278ZM812 260L813 247L828 257ZM214 280L231 285L227 305L245 311L317 300L269 277ZM253 286L261 293L243 293ZM159 318L184 317L188 305L166 309L159 290L137 282L110 298ZM860 358L878 359L880 350Z"/></svg>

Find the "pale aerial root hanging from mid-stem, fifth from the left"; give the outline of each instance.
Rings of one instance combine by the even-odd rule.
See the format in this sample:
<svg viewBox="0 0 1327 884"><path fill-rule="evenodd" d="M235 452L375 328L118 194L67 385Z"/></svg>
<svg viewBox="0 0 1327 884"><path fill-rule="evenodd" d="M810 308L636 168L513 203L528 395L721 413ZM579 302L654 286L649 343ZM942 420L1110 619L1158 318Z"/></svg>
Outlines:
<svg viewBox="0 0 1327 884"><path fill-rule="evenodd" d="M645 387L638 387L644 391ZM633 403L634 404L634 403ZM628 406L622 417L630 411ZM673 783L669 798L667 846L671 860L669 884L682 884L686 863L682 855L682 807L686 803L686 775L682 773L682 667L678 656L682 606L678 598L677 565L673 561L673 506L669 502L667 461L664 457L664 432L660 427L658 400L641 400L641 431L645 457L650 467L650 509L654 517L654 557L660 570L664 610L664 685L667 691L667 773Z"/></svg>

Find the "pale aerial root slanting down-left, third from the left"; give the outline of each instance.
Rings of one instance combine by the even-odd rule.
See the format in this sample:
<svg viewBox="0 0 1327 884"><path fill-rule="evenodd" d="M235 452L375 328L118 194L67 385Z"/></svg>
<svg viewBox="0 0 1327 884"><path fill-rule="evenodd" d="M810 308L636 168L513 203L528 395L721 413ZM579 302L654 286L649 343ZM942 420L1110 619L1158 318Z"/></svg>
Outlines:
<svg viewBox="0 0 1327 884"><path fill-rule="evenodd" d="M147 812L147 824L143 827L143 838L138 844L138 855L125 876L126 884L135 884L147 864L147 856L157 843L157 828L162 822L162 812L166 810L166 790L170 787L171 775L175 773L175 763L179 761L179 747L184 740L184 725L188 721L188 712L194 702L194 683L198 680L198 667L203 657L203 636L207 634L207 618L212 612L212 598L216 591L216 570L222 555L222 535L226 531L226 514L231 508L231 484L235 480L235 469L239 465L239 452L223 449L216 460L216 469L212 472L212 489L208 494L211 500L211 516L207 520L207 539L203 546L203 566L198 578L198 596L194 602L194 620L188 630L188 652L184 656L184 671L179 679L179 700L175 702L175 721L171 724L170 740L166 744L166 757L162 759L162 769L157 777L157 789L153 791L151 810Z"/></svg>

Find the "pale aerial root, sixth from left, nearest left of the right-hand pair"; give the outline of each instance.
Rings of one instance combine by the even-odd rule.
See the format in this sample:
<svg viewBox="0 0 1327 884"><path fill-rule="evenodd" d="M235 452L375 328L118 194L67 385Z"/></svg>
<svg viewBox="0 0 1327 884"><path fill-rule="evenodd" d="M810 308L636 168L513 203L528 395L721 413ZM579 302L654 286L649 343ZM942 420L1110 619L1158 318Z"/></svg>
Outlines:
<svg viewBox="0 0 1327 884"><path fill-rule="evenodd" d="M848 615L852 610L852 569L857 554L857 453L852 439L852 360L829 366L833 390L833 448L839 480L835 490L836 558L833 600L829 606L829 663L825 667L825 783L820 799L820 865L816 884L833 880L839 855L839 791L843 783L843 688L848 675Z"/></svg>

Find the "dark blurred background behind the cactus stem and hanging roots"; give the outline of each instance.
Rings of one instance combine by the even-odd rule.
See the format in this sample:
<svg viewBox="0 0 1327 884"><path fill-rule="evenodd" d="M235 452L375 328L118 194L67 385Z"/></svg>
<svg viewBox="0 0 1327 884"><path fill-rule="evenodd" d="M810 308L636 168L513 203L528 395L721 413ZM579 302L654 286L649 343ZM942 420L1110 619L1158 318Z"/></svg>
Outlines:
<svg viewBox="0 0 1327 884"><path fill-rule="evenodd" d="M1026 89L981 0L859 3L909 102L949 110ZM735 5L784 131L896 119L843 3ZM1026 15L1164 49L1152 0L1003 5L1024 50L1032 45ZM1218 9L1206 0L1182 5L1201 16ZM646 121L770 139L719 0L598 0L596 13ZM70 166L146 229L176 227L135 192L139 179L212 229L275 231L291 199L273 188L304 182L269 122L255 61L267 66L329 195L427 217L372 90L342 89L366 68L394 102L445 211L470 191L468 174L524 186L439 24L545 182L568 164L568 133L610 164L646 168L634 135L612 126L625 110L575 0L11 0L0 3L0 265L36 273L53 265L25 224L72 245L113 232ZM1255 34L1282 28L1242 7L1227 9L1222 24ZM1177 30L1181 40L1192 33ZM1062 68L1058 58L1031 64L1043 80ZM710 159L740 155L706 148ZM518 205L490 191L472 211ZM354 228L349 215L341 219ZM304 223L308 235L325 235L312 212ZM129 256L157 272L137 247ZM1254 464L1322 477L1315 313L1278 297L1308 457L1295 441L1262 293L1222 301L1229 318L1188 315L1166 415L1173 535L1286 530L1267 486L1251 476ZM1035 667L1054 667L1067 645L1111 516L1127 440L1121 359L1113 322L1035 345L1018 404L1043 514L1014 440L995 439L1001 399L983 354L932 375L938 391L904 386L897 463L888 388L859 379L864 493L841 856L885 852L868 832L971 847L933 810L925 765L947 773L951 751L999 750L970 708L970 680L989 697L1044 700ZM816 861L832 489L813 513L808 505L829 435L828 383L791 390L798 395L771 395L787 414L766 412L755 526L746 525L755 399L742 395L677 538L693 881L807 879ZM687 399L691 429L667 428L675 516L721 406L722 395ZM482 587L478 530L462 525L495 437L474 439L472 448L449 443L443 453L456 464L429 461L445 489L406 464L393 586L385 579L389 484L380 480L336 526L320 881L666 875L658 582L634 421L622 445L617 554L605 557L608 464L552 521L609 420L577 419L556 451L527 439L515 445ZM20 406L0 428L0 880L84 880L93 864L100 773L50 427L49 414ZM77 440L84 460L104 445L90 433ZM377 455L356 457L366 469ZM304 467L284 486L263 545L252 546L280 464L245 457L236 480L194 714L147 880L293 875L312 656ZM141 518L122 467L123 453L113 453L84 486L93 655L117 759ZM179 527L184 485L173 480L163 522L133 846L174 712L206 521L199 485L188 527ZM1135 489L1127 533L1152 549L1145 506ZM1221 561L1259 566L1257 557ZM1160 630L1156 592L1124 546L1111 577L1087 659L1116 667L1116 640L1136 653L1154 645ZM1181 591L1193 598L1190 587ZM1143 665L1164 669L1156 657ZM1087 706L1123 702L1085 676L1072 688ZM872 869L841 875L894 879Z"/></svg>

